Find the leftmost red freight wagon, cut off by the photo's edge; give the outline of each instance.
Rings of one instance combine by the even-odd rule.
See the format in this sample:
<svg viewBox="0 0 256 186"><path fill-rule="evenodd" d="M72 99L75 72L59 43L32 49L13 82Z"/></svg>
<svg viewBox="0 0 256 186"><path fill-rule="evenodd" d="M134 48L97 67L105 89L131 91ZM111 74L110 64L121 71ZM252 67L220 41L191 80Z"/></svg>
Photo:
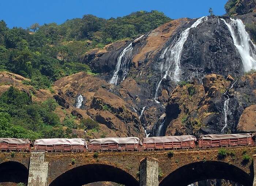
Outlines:
<svg viewBox="0 0 256 186"><path fill-rule="evenodd" d="M4 152L30 152L30 139L0 138L0 150Z"/></svg>

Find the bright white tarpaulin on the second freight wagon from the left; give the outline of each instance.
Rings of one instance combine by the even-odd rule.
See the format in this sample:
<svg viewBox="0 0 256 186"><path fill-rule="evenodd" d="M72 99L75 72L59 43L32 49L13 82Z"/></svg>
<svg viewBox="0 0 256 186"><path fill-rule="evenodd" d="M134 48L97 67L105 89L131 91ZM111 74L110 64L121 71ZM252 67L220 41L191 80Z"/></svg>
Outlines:
<svg viewBox="0 0 256 186"><path fill-rule="evenodd" d="M82 138L51 138L51 139L37 139L34 145L84 145L87 148L85 139Z"/></svg>

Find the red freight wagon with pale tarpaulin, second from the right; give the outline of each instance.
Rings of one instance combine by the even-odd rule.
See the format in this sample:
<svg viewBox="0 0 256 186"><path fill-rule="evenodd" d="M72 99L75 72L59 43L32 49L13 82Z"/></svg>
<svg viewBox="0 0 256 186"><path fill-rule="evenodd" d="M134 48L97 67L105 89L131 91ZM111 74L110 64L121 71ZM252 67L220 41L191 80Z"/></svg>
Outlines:
<svg viewBox="0 0 256 186"><path fill-rule="evenodd" d="M143 138L143 151L194 149L196 137L192 135Z"/></svg>

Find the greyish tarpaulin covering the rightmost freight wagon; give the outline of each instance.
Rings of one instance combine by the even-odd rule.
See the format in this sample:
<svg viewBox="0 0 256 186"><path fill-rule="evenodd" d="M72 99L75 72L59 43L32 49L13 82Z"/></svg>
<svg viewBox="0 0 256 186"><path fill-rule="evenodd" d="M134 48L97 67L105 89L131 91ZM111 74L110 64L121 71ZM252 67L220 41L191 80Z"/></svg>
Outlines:
<svg viewBox="0 0 256 186"><path fill-rule="evenodd" d="M199 136L199 139L232 139L232 138L250 138L252 134L207 134Z"/></svg>

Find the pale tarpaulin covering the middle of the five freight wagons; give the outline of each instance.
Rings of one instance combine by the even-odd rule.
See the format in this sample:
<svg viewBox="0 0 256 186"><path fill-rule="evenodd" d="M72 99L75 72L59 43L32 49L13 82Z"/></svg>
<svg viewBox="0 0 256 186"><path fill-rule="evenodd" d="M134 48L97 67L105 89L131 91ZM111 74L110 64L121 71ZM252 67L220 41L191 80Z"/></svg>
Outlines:
<svg viewBox="0 0 256 186"><path fill-rule="evenodd" d="M104 144L104 143L130 143L130 144L141 144L140 139L136 137L127 137L127 138L99 138L99 139L90 139L89 144Z"/></svg>

